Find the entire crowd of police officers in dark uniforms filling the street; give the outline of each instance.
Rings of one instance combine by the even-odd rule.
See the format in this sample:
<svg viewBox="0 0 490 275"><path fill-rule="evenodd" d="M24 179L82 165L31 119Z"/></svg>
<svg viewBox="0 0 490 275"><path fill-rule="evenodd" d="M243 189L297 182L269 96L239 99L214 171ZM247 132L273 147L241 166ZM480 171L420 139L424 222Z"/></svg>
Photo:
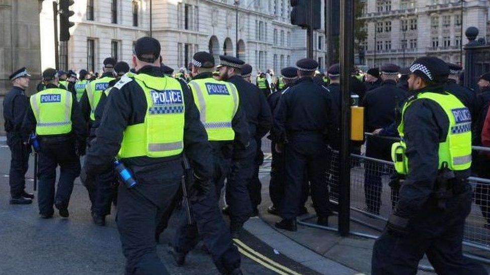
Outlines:
<svg viewBox="0 0 490 275"><path fill-rule="evenodd" d="M232 239L258 214L261 141L269 133L273 204L268 211L282 217L276 227L296 231L296 217L306 211L309 194L317 223L327 226L333 213L325 172L331 149L339 144L339 65L317 76L318 63L301 59L296 67L281 70L276 85L266 82L272 88L268 95L262 79L251 83L252 67L238 58L220 56L215 66L211 54L196 53L190 77L183 79L170 77L173 70L162 64L160 52L157 40L141 38L133 69L108 58L101 77L91 81L82 70L79 81L68 72L61 83L60 74L47 69L39 92L30 98L25 95L27 70L11 76L14 87L4 101L12 151L11 203L32 203L25 173L30 144L37 143L40 216L51 218L54 205L68 217L73 181L80 176L95 224L103 226L111 204L117 203L127 274L168 273L156 243L183 194L191 215L184 211L169 245L175 264L182 266L202 239L221 273L241 274ZM456 84L459 70L422 57L406 72L388 64L370 69L365 83L351 79L351 97L362 99L366 130L373 133L366 155L393 160L397 170L392 188L398 201L375 243L373 274L415 273L424 253L440 274L486 274L461 248L472 196L467 181L471 118L481 107L468 94L472 91ZM380 136L402 140L392 145ZM132 177L134 184L114 184L115 159L127 167L122 180ZM61 175L55 188L57 166ZM184 174L192 182L186 190ZM380 211L381 176L366 169L365 210L373 214ZM219 209L223 188L229 225Z"/></svg>

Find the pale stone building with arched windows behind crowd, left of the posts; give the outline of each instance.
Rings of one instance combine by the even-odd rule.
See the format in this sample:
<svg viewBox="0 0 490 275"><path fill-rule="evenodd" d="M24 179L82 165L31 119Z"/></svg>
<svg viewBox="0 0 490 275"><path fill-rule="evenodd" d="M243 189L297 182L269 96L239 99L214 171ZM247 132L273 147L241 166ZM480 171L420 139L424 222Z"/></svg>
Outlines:
<svg viewBox="0 0 490 275"><path fill-rule="evenodd" d="M162 45L164 63L175 70L185 67L197 51L218 57L234 56L238 50L254 73L277 72L306 57L306 31L290 24L289 0L239 0L237 5L234 0L153 0L151 5L152 35ZM62 69L100 71L109 56L131 62L134 42L150 35L149 0L77 0L72 7L75 26L70 41L60 46ZM52 28L52 18L52 9L43 9L41 30ZM46 36L43 68L54 66L53 34ZM315 31L314 45L314 57L323 69L323 29Z"/></svg>

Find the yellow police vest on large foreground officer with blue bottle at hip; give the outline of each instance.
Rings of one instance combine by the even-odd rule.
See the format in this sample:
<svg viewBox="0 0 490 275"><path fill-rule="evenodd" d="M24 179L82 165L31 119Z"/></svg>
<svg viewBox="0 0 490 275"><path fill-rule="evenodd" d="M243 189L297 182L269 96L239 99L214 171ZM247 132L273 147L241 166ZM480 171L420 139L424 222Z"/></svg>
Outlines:
<svg viewBox="0 0 490 275"><path fill-rule="evenodd" d="M182 153L185 104L180 82L147 74L132 79L143 89L148 110L143 123L130 125L124 131L118 156L160 158Z"/></svg>

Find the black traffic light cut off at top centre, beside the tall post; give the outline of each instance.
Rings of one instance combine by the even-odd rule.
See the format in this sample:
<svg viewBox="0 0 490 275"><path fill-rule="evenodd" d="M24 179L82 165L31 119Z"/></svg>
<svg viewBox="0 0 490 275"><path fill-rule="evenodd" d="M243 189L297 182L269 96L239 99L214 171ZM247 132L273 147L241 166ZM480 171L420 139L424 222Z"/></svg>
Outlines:
<svg viewBox="0 0 490 275"><path fill-rule="evenodd" d="M291 0L291 24L313 30L321 28L321 0Z"/></svg>

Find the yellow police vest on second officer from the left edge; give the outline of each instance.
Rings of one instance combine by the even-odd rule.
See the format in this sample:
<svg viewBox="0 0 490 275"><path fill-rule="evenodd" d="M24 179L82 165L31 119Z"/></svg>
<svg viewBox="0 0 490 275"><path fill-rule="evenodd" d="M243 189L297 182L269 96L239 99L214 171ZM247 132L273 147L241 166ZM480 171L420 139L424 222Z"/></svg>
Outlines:
<svg viewBox="0 0 490 275"><path fill-rule="evenodd" d="M43 90L31 96L36 118L36 135L61 135L71 132L72 94L59 88Z"/></svg>

